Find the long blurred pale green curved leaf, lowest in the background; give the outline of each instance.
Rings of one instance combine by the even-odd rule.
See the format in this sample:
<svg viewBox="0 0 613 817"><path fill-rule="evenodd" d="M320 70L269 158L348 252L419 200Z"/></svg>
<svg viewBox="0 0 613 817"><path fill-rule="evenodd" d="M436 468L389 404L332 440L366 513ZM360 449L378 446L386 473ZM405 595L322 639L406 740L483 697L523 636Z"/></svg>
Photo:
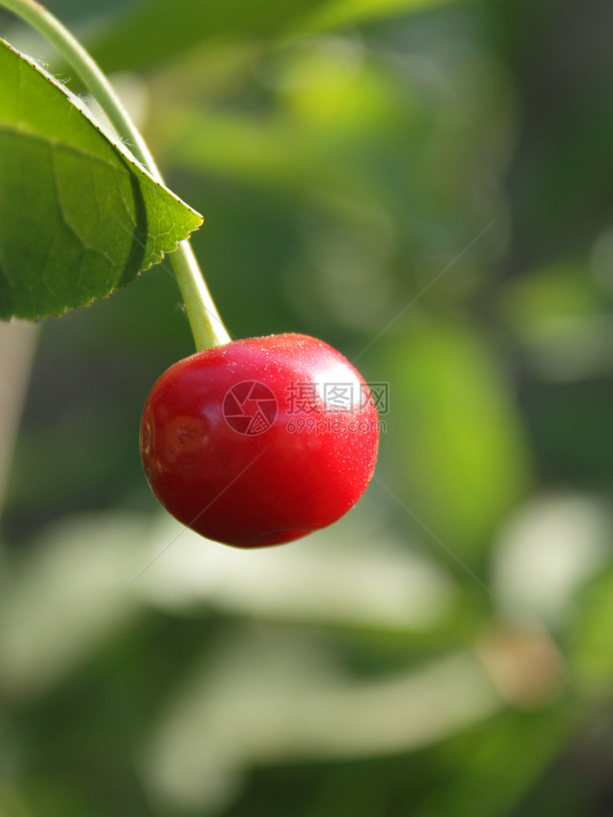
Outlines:
<svg viewBox="0 0 613 817"><path fill-rule="evenodd" d="M169 811L221 810L253 767L408 752L500 706L465 651L355 681L308 632L243 627L161 712L145 752L145 785Z"/></svg>

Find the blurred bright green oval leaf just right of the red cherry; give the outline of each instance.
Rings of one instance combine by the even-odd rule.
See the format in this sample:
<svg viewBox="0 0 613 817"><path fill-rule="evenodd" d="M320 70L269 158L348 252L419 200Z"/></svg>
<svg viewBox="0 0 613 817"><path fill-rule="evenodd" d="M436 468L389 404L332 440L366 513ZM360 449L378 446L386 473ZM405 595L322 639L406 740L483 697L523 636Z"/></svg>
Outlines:
<svg viewBox="0 0 613 817"><path fill-rule="evenodd" d="M490 347L479 328L430 319L390 344L384 364L403 496L460 553L485 546L530 481L510 384Z"/></svg>

